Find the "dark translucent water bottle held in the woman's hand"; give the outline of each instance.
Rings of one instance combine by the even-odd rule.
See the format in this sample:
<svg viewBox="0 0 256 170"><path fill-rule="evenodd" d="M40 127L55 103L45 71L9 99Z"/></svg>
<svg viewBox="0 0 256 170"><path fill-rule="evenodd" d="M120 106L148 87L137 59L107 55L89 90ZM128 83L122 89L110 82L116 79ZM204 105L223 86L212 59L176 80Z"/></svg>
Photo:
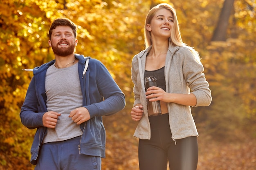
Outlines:
<svg viewBox="0 0 256 170"><path fill-rule="evenodd" d="M152 87L152 86L157 86L157 79L153 76L146 77L145 78L146 91L149 87ZM150 102L149 99L147 99L147 105L148 105L148 116L161 115L162 111L161 111L161 105L159 100L155 102Z"/></svg>

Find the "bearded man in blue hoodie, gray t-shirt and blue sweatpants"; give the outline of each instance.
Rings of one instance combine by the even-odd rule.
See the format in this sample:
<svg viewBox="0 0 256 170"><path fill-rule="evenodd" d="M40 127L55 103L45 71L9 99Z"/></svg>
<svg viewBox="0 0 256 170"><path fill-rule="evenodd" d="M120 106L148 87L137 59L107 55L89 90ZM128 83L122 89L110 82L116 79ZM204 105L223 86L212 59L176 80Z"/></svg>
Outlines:
<svg viewBox="0 0 256 170"><path fill-rule="evenodd" d="M72 21L54 20L48 43L55 60L33 69L20 119L37 128L31 146L35 170L100 170L106 143L102 116L125 106L107 68L75 54L77 42Z"/></svg>

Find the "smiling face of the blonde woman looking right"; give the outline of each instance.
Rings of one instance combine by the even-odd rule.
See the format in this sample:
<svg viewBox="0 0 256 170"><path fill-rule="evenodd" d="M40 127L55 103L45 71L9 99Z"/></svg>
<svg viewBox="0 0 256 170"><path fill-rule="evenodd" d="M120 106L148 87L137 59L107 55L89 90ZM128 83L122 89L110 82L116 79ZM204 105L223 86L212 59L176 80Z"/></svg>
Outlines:
<svg viewBox="0 0 256 170"><path fill-rule="evenodd" d="M146 29L150 31L153 39L170 38L173 21L173 14L170 11L167 9L159 9L150 24L146 25Z"/></svg>

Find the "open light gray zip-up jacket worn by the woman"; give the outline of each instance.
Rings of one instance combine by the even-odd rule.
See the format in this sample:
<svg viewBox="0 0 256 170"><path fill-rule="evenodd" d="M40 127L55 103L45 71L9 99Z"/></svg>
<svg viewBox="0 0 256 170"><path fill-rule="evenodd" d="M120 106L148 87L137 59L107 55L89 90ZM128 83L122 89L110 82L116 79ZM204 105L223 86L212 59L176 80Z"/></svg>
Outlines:
<svg viewBox="0 0 256 170"><path fill-rule="evenodd" d="M135 85L133 88L135 94L134 106L136 104L142 104L144 108L144 115L139 120L134 133L134 136L139 139L150 139L144 72L146 55L151 47L141 51L132 59L132 82ZM211 91L208 82L205 80L204 73L202 73L203 71L203 65L197 62L188 47L169 45L164 67L167 93L188 94L192 91L191 93L197 99L197 104L194 107L209 106L212 100ZM168 114L171 133L173 135L172 139L174 141L175 139L182 139L189 136L198 136L190 106L168 103Z"/></svg>

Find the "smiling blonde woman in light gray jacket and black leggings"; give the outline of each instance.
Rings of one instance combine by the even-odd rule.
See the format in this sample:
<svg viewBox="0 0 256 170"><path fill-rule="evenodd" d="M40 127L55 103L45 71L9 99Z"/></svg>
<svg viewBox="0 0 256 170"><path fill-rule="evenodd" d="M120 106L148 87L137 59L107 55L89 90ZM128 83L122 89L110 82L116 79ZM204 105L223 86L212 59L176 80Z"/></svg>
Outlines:
<svg viewBox="0 0 256 170"><path fill-rule="evenodd" d="M131 117L139 121L140 170L196 170L198 132L190 106L209 106L211 91L198 53L182 42L176 11L169 4L153 7L145 21L146 50L132 59L135 102ZM144 79L157 86L145 89ZM146 93L145 93L146 91ZM192 91L192 92L191 92ZM162 114L148 116L147 99L160 101Z"/></svg>

